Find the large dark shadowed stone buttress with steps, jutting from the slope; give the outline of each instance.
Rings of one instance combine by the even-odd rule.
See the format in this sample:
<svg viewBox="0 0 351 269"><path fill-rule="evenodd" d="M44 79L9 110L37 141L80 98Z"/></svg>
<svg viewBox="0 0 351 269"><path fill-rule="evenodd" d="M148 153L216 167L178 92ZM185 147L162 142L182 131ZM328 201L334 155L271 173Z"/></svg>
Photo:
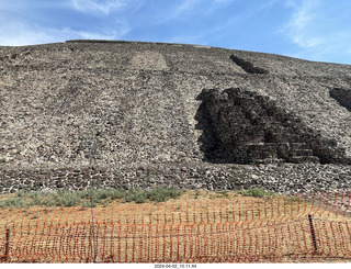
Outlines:
<svg viewBox="0 0 351 269"><path fill-rule="evenodd" d="M202 100L233 162L350 162L336 141L321 137L269 97L230 88L204 90Z"/></svg>

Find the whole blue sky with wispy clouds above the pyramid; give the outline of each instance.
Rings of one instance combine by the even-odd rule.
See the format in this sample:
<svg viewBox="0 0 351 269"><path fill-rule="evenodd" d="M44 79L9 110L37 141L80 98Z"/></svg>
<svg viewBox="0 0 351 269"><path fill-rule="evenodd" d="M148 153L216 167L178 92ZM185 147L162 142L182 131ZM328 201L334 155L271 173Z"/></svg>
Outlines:
<svg viewBox="0 0 351 269"><path fill-rule="evenodd" d="M0 0L0 45L201 44L351 64L350 0Z"/></svg>

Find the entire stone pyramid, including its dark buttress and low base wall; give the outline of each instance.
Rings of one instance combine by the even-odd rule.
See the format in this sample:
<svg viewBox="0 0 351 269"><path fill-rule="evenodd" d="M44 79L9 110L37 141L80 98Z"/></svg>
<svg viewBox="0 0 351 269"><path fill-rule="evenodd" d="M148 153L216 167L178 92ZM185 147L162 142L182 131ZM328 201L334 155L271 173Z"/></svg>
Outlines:
<svg viewBox="0 0 351 269"><path fill-rule="evenodd" d="M347 65L180 44L0 47L0 192L351 181Z"/></svg>

